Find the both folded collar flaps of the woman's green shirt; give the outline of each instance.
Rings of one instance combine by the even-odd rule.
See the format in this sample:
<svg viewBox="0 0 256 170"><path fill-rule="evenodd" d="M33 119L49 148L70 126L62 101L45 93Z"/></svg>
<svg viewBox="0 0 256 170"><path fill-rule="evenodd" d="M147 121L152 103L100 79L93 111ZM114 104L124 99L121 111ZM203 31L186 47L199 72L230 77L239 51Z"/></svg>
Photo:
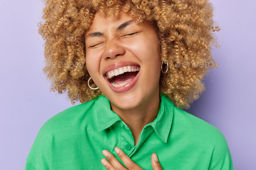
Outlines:
<svg viewBox="0 0 256 170"><path fill-rule="evenodd" d="M174 104L165 94L160 93L160 98L161 107L158 112L158 116L153 122L149 123L148 125L151 125L154 128L154 131L156 132L158 137L166 143L173 120ZM118 120L121 121L121 118L118 116L118 114L111 110L111 105L108 98L101 95L95 100L98 132L107 129Z"/></svg>

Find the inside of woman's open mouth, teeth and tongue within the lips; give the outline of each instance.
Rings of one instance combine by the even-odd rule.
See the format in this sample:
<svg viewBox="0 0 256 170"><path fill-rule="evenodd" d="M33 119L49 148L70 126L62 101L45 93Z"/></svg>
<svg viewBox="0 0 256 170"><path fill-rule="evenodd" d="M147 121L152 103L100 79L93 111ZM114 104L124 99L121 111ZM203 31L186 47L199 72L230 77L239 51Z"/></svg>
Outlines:
<svg viewBox="0 0 256 170"><path fill-rule="evenodd" d="M134 79L140 71L140 66L124 66L105 73L108 82L114 87L126 85Z"/></svg>

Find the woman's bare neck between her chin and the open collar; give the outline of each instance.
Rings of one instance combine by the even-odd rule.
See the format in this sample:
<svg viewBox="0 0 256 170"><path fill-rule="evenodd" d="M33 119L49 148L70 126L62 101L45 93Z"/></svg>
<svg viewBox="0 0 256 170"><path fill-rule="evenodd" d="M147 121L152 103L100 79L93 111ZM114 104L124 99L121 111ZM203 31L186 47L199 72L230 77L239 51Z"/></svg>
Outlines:
<svg viewBox="0 0 256 170"><path fill-rule="evenodd" d="M161 104L159 100L159 88L157 87L143 103L129 110L116 107L110 102L112 110L117 113L121 120L131 129L135 145L138 143L139 135L144 126L156 119Z"/></svg>

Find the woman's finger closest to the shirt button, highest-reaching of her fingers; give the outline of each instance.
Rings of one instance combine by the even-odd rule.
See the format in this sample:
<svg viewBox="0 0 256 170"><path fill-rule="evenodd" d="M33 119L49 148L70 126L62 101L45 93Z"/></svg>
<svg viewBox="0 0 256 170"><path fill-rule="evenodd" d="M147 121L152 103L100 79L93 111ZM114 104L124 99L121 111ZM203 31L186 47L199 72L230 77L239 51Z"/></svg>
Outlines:
<svg viewBox="0 0 256 170"><path fill-rule="evenodd" d="M123 152L120 148L115 147L115 152L118 157L123 161L128 170L142 170L137 164L131 161L130 157L128 157L125 152Z"/></svg>

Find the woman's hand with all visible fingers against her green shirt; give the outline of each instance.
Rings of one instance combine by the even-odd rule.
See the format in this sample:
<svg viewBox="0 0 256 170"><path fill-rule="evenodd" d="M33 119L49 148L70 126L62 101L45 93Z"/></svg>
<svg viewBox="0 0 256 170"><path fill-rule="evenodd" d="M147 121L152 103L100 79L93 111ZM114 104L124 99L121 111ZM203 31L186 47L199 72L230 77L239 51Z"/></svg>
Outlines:
<svg viewBox="0 0 256 170"><path fill-rule="evenodd" d="M125 152L123 152L120 148L115 147L115 152L117 153L118 157L123 161L125 166L128 168L128 170L143 170L141 167L139 167L137 164L135 164L133 161L131 161L130 157L128 157ZM108 152L107 150L103 150L102 154L108 158L108 161L103 158L101 160L101 163L107 168L107 170L127 170L116 158L113 154ZM153 170L163 170L156 153L153 153L151 155L151 164L153 167Z"/></svg>

